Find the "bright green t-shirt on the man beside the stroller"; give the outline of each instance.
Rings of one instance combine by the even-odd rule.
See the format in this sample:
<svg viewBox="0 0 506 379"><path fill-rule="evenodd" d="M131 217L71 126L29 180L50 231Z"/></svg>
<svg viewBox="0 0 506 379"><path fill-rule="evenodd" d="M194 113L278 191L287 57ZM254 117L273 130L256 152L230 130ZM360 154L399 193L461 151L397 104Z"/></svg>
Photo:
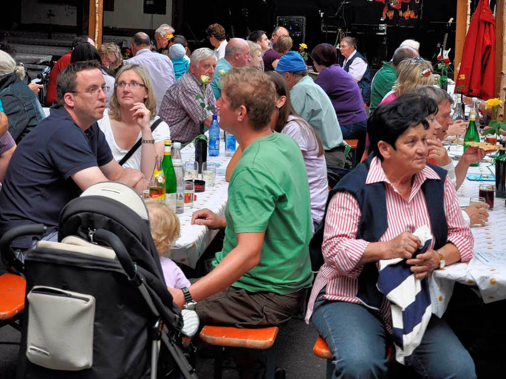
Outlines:
<svg viewBox="0 0 506 379"><path fill-rule="evenodd" d="M244 150L230 178L225 218L223 250L214 266L237 246L237 233L265 231L259 264L233 287L285 295L311 286L309 184L291 137L273 132Z"/></svg>

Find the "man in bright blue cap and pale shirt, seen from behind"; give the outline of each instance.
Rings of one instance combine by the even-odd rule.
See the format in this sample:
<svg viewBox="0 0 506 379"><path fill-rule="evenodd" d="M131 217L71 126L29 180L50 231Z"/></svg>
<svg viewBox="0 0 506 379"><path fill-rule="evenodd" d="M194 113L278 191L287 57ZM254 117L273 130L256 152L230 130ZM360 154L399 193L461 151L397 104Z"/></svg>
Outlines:
<svg viewBox="0 0 506 379"><path fill-rule="evenodd" d="M327 166L344 167L346 143L325 91L308 76L306 63L297 52L283 55L275 69L290 88L293 109L309 122L320 136Z"/></svg>

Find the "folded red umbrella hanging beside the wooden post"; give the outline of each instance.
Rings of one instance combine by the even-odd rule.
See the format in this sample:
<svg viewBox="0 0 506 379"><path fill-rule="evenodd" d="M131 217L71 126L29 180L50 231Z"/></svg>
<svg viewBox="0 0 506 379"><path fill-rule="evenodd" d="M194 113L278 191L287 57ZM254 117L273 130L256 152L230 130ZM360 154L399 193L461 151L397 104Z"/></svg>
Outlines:
<svg viewBox="0 0 506 379"><path fill-rule="evenodd" d="M455 86L463 85L463 94L484 100L494 97L495 18L488 2L480 0L471 19L458 72L466 78Z"/></svg>

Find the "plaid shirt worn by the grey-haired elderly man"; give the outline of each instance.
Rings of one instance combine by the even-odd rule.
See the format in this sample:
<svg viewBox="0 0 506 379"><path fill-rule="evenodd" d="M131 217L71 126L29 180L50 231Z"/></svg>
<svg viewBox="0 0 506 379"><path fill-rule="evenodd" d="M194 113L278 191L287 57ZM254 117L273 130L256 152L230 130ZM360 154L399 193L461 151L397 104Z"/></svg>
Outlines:
<svg viewBox="0 0 506 379"><path fill-rule="evenodd" d="M197 94L202 94L202 84L190 71L165 92L158 116L171 128L173 141L187 144L199 134L202 107L200 100L195 100ZM217 113L216 100L209 85L205 86L205 106L211 106L211 111L205 111L204 119Z"/></svg>

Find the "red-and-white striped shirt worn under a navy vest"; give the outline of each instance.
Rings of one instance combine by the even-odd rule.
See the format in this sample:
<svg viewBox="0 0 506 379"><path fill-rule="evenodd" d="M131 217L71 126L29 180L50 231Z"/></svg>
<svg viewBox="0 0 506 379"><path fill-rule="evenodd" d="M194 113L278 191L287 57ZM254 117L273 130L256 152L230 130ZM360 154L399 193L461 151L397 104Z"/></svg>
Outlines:
<svg viewBox="0 0 506 379"><path fill-rule="evenodd" d="M417 172L414 175L409 199L406 201L388 180L381 161L378 158L371 161L366 184L382 181L386 184L388 227L379 241L390 241L405 231L412 233L423 225L431 227L425 196L421 191L421 185L426 179L440 179L440 176L429 166ZM448 177L445 179L444 186L444 209L448 224L447 241L456 246L460 253L461 262L469 262L473 257L473 234L469 225L462 218L455 187ZM356 295L358 291L357 279L363 266L358 262L369 243L356 239L360 216L358 203L350 193L338 192L330 200L322 244L325 263L321 266L313 285L306 322L309 322L311 318L318 293L325 286L327 286L326 300L361 304ZM390 303L386 298L379 310L379 315L390 330Z"/></svg>

